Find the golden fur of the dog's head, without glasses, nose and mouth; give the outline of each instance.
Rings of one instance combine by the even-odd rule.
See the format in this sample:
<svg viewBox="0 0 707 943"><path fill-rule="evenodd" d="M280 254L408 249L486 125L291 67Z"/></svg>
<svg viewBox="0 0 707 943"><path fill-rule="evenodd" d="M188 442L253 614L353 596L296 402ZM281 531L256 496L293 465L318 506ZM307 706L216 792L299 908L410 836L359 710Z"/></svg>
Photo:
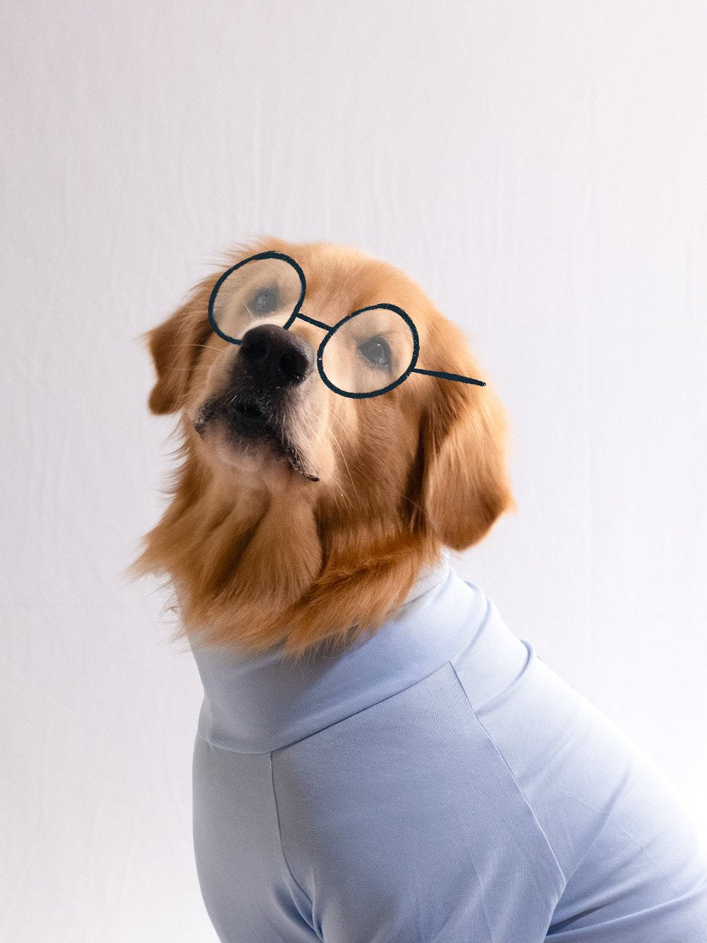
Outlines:
<svg viewBox="0 0 707 943"><path fill-rule="evenodd" d="M401 306L419 331L419 367L488 383L462 332L391 265L348 247L271 238L239 246L228 265L272 249L304 269L304 313L336 323L359 307ZM228 455L218 437L202 439L193 425L238 356L207 319L220 274L140 336L156 368L149 407L178 413L182 463L171 504L126 572L167 576L177 637L192 644L256 654L282 642L294 660L321 644L342 651L389 618L442 545L464 550L516 509L504 411L488 385L412 373L382 396L351 399L315 370L297 415L319 481L268 455ZM317 349L321 329L298 320L289 330Z"/></svg>

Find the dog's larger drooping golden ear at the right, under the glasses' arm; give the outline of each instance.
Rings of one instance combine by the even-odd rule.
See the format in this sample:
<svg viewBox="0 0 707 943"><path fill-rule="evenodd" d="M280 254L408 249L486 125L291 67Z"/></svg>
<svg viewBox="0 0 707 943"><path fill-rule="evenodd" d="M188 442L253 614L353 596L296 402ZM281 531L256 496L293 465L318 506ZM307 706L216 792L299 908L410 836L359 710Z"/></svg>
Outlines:
<svg viewBox="0 0 707 943"><path fill-rule="evenodd" d="M485 379L468 356L442 369ZM420 436L420 504L427 529L462 551L485 537L505 511L517 510L506 469L507 423L488 386L431 382L436 389Z"/></svg>

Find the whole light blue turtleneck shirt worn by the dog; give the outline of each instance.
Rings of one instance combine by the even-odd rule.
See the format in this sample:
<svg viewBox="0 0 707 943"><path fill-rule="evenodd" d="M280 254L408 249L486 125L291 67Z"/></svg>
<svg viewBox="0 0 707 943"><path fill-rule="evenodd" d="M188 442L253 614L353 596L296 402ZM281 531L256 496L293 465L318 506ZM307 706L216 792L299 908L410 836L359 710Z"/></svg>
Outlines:
<svg viewBox="0 0 707 943"><path fill-rule="evenodd" d="M194 657L194 846L223 941L707 941L678 790L448 554L343 655Z"/></svg>

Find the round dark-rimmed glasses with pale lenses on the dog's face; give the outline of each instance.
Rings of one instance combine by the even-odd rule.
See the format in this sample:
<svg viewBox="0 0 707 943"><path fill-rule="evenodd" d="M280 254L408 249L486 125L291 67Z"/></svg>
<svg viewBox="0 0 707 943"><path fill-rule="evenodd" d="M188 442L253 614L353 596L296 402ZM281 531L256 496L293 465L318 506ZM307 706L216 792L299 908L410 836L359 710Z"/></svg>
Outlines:
<svg viewBox="0 0 707 943"><path fill-rule="evenodd" d="M232 344L239 344L256 324L288 330L300 318L321 327L326 334L317 351L317 368L326 386L340 396L381 396L413 372L485 387L469 376L417 367L419 334L402 307L361 307L331 325L302 312L305 292L304 272L293 258L260 252L222 274L208 299L208 320L216 334Z"/></svg>

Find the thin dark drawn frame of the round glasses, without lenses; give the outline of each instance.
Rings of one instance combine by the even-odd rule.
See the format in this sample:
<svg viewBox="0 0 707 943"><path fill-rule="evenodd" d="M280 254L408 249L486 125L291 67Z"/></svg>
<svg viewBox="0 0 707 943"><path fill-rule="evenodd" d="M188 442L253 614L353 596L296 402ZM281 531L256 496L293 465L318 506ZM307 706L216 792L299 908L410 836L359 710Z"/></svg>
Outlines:
<svg viewBox="0 0 707 943"><path fill-rule="evenodd" d="M304 302L304 294L306 293L306 280L304 278L304 272L302 271L302 268L294 260L294 258L292 258L291 256L286 256L282 252L274 252L274 251L258 252L255 254L255 256L248 256L248 258L242 259L241 261L237 262L236 265L232 265L230 269L227 269L221 275L217 283L214 285L208 299L208 321L211 325L212 330L223 340L227 340L231 344L239 344L242 342L242 340L237 340L235 338L229 337L227 334L223 334L222 330L219 328L219 325L216 323L216 318L214 317L214 303L216 301L216 296L219 293L219 289L221 288L226 278L228 278L230 274L236 272L236 270L239 269L241 266L246 265L248 262L255 262L255 260L263 259L263 258L278 258L283 262L288 262L288 264L291 265L292 268L297 273L300 279L300 285L302 286L302 290L300 291L300 297L297 301L297 304L294 306L294 308L292 309L292 313L288 317L287 323L283 325L283 330L287 331L288 328L293 323L295 323L295 321L298 318L300 318L302 321L308 324L314 324L315 327L321 327L323 330L326 331L326 336L321 340L321 344L317 351L317 369L321 376L322 382L326 384L326 386L329 389L333 389L335 393L338 393L339 396L348 396L351 399L356 399L356 400L370 399L370 397L373 397L373 396L380 396L382 393L387 393L391 389L395 389L396 387L399 387L401 383L404 383L404 381L408 378L410 373L424 373L426 376L436 376L442 380L454 380L457 383L472 383L479 387L485 387L485 382L483 380L475 380L470 376L461 376L459 373L446 373L446 372L441 372L437 370L422 370L420 367L417 367L416 364L419 359L418 329L415 326L415 323L413 322L410 315L407 314L406 311L403 311L402 307L399 307L397 305L390 305L384 302L384 303L381 303L380 305L369 305L366 307L359 307L356 311L352 311L351 314L347 314L344 318L342 318L333 326L331 324L325 324L321 321L316 321L314 318L308 317L306 314L304 314L300 310ZM339 389L337 386L335 386L331 382L331 380L326 375L326 372L324 371L324 366L322 362L322 358L324 356L324 348L329 343L329 341L333 338L338 328L341 327L343 324L347 323L348 321L351 321L351 319L354 318L356 315L363 314L364 311L372 311L379 307L386 308L388 311L393 311L395 312L395 314L400 315L400 317L403 318L403 321L410 328L410 333L412 334L412 337L413 337L413 356L412 356L412 359L410 360L410 364L407 367L407 369L396 380L393 381L393 383L389 383L383 389L374 389L372 392L368 392L368 393L350 393L346 389Z"/></svg>

